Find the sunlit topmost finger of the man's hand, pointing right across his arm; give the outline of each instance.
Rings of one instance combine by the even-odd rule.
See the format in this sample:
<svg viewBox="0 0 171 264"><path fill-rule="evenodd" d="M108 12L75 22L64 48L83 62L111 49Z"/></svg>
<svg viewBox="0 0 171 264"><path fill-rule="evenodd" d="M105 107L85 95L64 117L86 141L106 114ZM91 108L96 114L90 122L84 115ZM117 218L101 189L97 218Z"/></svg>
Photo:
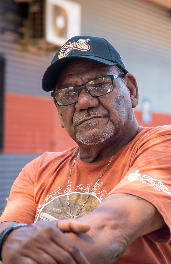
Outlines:
<svg viewBox="0 0 171 264"><path fill-rule="evenodd" d="M90 230L88 224L74 219L59 220L56 225L62 232L86 233Z"/></svg>

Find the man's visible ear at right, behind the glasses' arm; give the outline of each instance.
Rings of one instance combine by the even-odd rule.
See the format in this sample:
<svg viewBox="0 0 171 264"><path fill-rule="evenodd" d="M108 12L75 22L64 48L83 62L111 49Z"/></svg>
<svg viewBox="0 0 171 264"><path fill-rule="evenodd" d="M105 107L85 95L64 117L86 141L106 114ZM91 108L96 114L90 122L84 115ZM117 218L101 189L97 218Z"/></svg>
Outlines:
<svg viewBox="0 0 171 264"><path fill-rule="evenodd" d="M132 107L135 108L138 105L138 87L135 77L131 73L124 75L125 84L129 90Z"/></svg>

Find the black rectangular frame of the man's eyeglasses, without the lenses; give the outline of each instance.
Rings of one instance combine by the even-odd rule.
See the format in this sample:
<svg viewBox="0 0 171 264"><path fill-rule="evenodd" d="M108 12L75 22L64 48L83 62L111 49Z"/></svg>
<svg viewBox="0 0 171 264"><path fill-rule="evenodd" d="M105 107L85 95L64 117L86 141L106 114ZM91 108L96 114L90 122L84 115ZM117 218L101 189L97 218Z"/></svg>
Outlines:
<svg viewBox="0 0 171 264"><path fill-rule="evenodd" d="M110 77L110 79L111 79L111 81L112 81L112 90L111 90L110 92L112 92L112 91L113 91L113 80L114 80L114 79L117 79L118 77L122 77L122 76L119 75L119 74L110 74L110 75L105 75L105 76L96 77L96 78L91 79L91 80L89 80L88 82L83 83L83 84L80 84L80 85L73 85L74 87L77 87L77 88L78 88L78 96L79 96L79 94L80 94L79 88L82 87L82 86L84 86L84 88L86 89L86 91L87 91L92 97L100 97L100 96L103 96L103 95L97 95L97 96L92 95L92 94L89 92L89 90L87 89L87 87L86 87L86 84L87 84L87 83L92 82L92 81L94 81L94 80L96 80L96 79L99 79L99 78L103 78L103 77ZM71 85L71 86L72 86L72 85ZM66 87L66 88L67 88L67 87ZM64 88L64 89L65 89L65 88ZM67 106L67 105L59 105L59 104L58 104L58 102L57 102L57 100L56 100L56 98L55 98L55 92L56 92L56 91L53 90L53 92L51 92L51 96L55 99L55 102L57 103L57 105L58 105L58 106ZM110 92L108 92L108 93L110 93ZM104 93L104 95L107 95L108 93ZM77 103L77 102L78 102L78 100L77 100L76 102L74 102L74 103ZM74 103L70 103L69 105L73 105Z"/></svg>

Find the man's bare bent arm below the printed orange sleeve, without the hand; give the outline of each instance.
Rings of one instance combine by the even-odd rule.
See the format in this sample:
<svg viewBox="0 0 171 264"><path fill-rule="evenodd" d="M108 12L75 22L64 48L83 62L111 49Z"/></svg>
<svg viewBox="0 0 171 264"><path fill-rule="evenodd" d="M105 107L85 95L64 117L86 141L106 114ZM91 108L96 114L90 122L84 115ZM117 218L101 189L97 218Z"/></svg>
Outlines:
<svg viewBox="0 0 171 264"><path fill-rule="evenodd" d="M86 234L68 233L90 263L113 263L139 236L164 226L149 202L133 195L107 197L92 213L78 219L90 225ZM136 223L136 225L135 225Z"/></svg>

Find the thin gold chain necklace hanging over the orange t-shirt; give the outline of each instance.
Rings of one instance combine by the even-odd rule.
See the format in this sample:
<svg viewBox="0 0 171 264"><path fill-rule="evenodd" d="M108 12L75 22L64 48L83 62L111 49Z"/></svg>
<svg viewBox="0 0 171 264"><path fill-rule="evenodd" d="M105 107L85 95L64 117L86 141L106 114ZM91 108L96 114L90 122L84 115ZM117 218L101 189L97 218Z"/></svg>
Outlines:
<svg viewBox="0 0 171 264"><path fill-rule="evenodd" d="M69 178L68 178L68 185L67 185L67 204L68 204L68 209L69 209L69 213L70 213L71 218L75 218L75 217L81 212L81 210L83 209L84 205L86 204L88 198L90 197L90 194L92 193L93 188L97 185L97 183L99 182L99 180L102 178L103 174L105 173L106 169L108 168L110 162L112 161L112 159L113 159L113 157L114 157L114 155L115 155L116 153L117 153L117 152L115 152L115 153L113 154L113 156L111 157L109 163L107 164L107 166L106 166L104 172L102 173L102 175L100 175L100 177L98 178L97 182L96 182L96 183L94 184L94 186L92 187L92 189L91 189L91 191L90 191L90 193L89 193L89 195L88 195L86 201L85 201L84 204L81 206L81 208L79 209L78 213L75 214L75 215L72 215L72 214L71 214L70 203L69 203L69 183L70 183L70 177L71 177L72 169L73 169L74 164L75 164L75 162L76 162L76 160L77 160L77 158L78 158L78 156L79 156L79 153L77 154L77 157L74 159L74 162L73 162L72 167L71 167L71 169L70 169Z"/></svg>

